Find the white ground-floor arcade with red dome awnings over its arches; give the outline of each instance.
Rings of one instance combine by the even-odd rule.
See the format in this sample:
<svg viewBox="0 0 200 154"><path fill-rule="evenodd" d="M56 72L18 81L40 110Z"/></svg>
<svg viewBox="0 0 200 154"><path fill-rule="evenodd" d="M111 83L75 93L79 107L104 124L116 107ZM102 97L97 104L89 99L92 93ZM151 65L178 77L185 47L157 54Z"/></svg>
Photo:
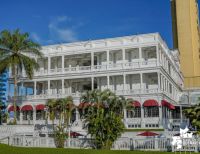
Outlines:
<svg viewBox="0 0 200 154"><path fill-rule="evenodd" d="M143 102L135 100L134 110L124 110L124 124L126 128L167 128L173 129L182 122L187 122L181 105L172 105L167 100L147 99ZM48 108L45 103L41 104L23 104L17 106L18 124L51 124L52 121L47 118ZM8 106L9 115L14 111L12 104ZM87 113L87 107L83 104L77 104L72 111L71 122L81 121ZM55 123L59 122L59 113L55 115Z"/></svg>

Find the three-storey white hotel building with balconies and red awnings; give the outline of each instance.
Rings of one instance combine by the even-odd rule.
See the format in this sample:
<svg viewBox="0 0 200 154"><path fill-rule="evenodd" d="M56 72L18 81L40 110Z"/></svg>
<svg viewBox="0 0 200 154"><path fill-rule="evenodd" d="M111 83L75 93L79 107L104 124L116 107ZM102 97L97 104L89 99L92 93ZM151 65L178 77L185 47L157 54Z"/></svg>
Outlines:
<svg viewBox="0 0 200 154"><path fill-rule="evenodd" d="M135 113L124 114L127 128L171 129L186 121L179 53L158 33L49 45L42 52L45 60L37 59L40 69L34 78L22 73L18 124L44 124L47 99L66 96L77 105L73 121L81 121L81 93L93 89L135 100Z"/></svg>

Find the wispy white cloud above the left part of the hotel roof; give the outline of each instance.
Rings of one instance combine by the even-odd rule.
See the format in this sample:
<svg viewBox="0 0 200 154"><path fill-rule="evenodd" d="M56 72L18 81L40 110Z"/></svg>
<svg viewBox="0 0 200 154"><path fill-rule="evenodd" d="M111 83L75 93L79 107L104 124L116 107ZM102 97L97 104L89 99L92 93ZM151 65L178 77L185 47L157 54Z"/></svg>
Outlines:
<svg viewBox="0 0 200 154"><path fill-rule="evenodd" d="M77 41L75 29L69 26L71 18L67 16L58 16L53 18L49 25L50 39L56 42L74 42Z"/></svg>

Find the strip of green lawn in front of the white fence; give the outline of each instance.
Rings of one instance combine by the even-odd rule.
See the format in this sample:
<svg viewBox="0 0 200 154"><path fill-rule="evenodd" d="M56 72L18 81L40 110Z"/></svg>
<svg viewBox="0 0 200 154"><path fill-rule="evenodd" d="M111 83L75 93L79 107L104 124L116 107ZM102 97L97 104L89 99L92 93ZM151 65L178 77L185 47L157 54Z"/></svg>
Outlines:
<svg viewBox="0 0 200 154"><path fill-rule="evenodd" d="M109 151L86 149L19 148L0 144L0 154L171 154L170 152Z"/></svg>

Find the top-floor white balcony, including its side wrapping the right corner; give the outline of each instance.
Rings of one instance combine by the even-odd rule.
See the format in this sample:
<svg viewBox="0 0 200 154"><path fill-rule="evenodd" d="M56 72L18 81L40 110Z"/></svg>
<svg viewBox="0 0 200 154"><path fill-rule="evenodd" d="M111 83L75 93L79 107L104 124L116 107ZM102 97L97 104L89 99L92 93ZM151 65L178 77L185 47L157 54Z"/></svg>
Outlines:
<svg viewBox="0 0 200 154"><path fill-rule="evenodd" d="M80 75L82 73L92 75L111 71L155 70L160 67L178 86L183 84L182 76L176 72L177 67L170 64L159 45L90 51L89 53L73 55L65 55L64 53L60 56L47 55L44 59L37 59L37 61L40 68L34 74L35 79L59 78L59 76ZM21 75L26 78L24 71ZM10 77L12 77L12 73Z"/></svg>

